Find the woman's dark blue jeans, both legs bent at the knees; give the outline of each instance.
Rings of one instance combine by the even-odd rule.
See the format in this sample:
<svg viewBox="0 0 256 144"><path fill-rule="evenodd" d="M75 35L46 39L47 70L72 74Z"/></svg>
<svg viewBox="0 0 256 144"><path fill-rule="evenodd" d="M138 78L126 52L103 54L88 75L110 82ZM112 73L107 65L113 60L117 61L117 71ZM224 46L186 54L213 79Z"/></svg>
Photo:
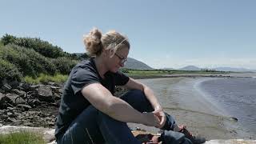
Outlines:
<svg viewBox="0 0 256 144"><path fill-rule="evenodd" d="M121 98L140 112L154 110L141 90L130 90ZM166 118L166 124L163 126L163 129L173 130L174 118L169 114L166 114ZM110 118L94 108L94 106L88 106L83 110L70 124L65 134L58 137L57 142L58 144L141 143L138 139L134 138L126 122Z"/></svg>

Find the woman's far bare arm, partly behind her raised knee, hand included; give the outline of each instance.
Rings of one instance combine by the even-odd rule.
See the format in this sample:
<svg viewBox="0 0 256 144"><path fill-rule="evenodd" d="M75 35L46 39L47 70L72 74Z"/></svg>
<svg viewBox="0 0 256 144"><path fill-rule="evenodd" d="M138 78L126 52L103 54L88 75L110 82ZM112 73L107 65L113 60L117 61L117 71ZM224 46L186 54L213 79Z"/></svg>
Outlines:
<svg viewBox="0 0 256 144"><path fill-rule="evenodd" d="M160 126L156 127L161 128L164 126L166 122L166 115L163 113L162 106L158 102L158 99L154 96L154 92L150 89L150 87L142 84L141 82L138 82L133 78L130 78L124 87L129 90L142 90L146 95L146 98L150 101L151 106L154 108L153 113L160 119Z"/></svg>

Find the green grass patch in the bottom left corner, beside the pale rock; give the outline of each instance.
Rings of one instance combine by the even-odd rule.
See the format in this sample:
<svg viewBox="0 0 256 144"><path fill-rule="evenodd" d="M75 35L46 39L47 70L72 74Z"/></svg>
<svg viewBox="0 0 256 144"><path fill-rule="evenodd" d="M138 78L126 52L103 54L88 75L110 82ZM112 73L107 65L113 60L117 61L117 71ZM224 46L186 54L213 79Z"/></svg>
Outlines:
<svg viewBox="0 0 256 144"><path fill-rule="evenodd" d="M42 134L29 131L0 134L0 144L46 144Z"/></svg>

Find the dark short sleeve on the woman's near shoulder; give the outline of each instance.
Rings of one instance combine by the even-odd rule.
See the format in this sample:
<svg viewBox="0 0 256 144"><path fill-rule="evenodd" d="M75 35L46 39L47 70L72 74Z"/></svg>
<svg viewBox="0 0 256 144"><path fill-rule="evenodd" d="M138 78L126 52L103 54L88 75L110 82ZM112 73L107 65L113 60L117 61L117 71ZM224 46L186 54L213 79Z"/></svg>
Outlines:
<svg viewBox="0 0 256 144"><path fill-rule="evenodd" d="M74 94L77 94L83 87L96 82L100 83L98 76L94 72L79 68L74 71L71 78L71 87L74 90Z"/></svg>

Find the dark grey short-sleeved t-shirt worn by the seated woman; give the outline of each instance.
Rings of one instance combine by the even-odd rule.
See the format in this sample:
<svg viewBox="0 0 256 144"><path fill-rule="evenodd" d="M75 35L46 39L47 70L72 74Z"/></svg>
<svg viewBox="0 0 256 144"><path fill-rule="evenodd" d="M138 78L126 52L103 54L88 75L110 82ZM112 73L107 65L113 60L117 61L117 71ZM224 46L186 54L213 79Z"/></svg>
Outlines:
<svg viewBox="0 0 256 144"><path fill-rule="evenodd" d="M94 63L94 58L82 61L74 66L64 86L60 107L58 110L57 127L55 137L66 131L70 123L78 117L90 102L82 96L82 88L91 83L101 83L114 94L115 86L123 86L129 81L129 77L122 72L107 72L102 79Z"/></svg>

